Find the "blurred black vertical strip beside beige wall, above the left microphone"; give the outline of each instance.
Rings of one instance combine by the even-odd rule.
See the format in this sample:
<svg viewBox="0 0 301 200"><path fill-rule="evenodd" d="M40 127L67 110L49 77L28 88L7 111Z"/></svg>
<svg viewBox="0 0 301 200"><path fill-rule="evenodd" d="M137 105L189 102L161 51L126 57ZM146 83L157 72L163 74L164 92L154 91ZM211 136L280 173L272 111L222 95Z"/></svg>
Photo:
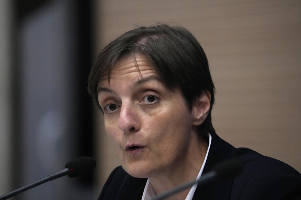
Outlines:
<svg viewBox="0 0 301 200"><path fill-rule="evenodd" d="M92 14L91 1L77 1L76 5L77 22L77 53L78 53L78 76L79 81L79 116L81 128L79 141L80 153L93 157L93 135L92 135L92 101L87 93L87 78L92 65Z"/></svg>

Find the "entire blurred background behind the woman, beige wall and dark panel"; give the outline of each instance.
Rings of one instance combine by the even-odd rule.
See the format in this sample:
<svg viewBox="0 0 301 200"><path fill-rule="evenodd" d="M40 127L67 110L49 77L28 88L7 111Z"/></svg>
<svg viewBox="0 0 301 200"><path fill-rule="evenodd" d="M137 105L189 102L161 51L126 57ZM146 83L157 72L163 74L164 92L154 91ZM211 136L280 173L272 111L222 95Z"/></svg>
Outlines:
<svg viewBox="0 0 301 200"><path fill-rule="evenodd" d="M186 27L206 52L217 134L301 172L301 1L0 0L0 195L91 156L91 174L11 199L97 198L120 164L89 70L108 42L156 22Z"/></svg>

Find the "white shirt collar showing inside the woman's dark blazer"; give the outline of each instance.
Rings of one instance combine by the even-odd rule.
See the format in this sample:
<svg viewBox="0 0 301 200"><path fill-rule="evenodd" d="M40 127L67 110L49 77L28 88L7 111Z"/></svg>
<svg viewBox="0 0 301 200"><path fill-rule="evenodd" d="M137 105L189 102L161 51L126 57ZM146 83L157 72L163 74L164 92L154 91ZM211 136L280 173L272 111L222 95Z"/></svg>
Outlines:
<svg viewBox="0 0 301 200"><path fill-rule="evenodd" d="M204 162L202 164L202 167L201 167L200 172L198 173L198 177L196 179L199 179L201 177L203 169L205 167L205 163L206 163L207 157L208 157L208 153L209 153L209 149L210 149L210 145L211 145L211 140L212 140L212 137L211 137L210 133L208 133L208 136L209 136L209 146L208 146L208 149L207 149L207 153L206 153ZM188 195L187 195L187 197L186 197L185 200L192 200L192 197L193 197L193 194L195 192L195 189L197 188L197 185L198 184L194 184L191 187L191 189L190 189L190 191L189 191L189 193L188 193ZM147 179L147 182L145 184L141 200L150 200L151 198L155 197L156 195L157 194L156 194L153 186L150 183L150 179Z"/></svg>

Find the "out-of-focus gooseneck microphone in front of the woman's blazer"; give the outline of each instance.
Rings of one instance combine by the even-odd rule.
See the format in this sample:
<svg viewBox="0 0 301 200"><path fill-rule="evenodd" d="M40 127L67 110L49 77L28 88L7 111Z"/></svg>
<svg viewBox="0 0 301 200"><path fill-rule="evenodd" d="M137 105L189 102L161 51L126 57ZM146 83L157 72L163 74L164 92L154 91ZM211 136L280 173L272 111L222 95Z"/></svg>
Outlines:
<svg viewBox="0 0 301 200"><path fill-rule="evenodd" d="M188 183L184 183L177 187L174 187L166 192L159 194L158 196L152 198L151 200L161 200L165 197L168 197L172 194L180 192L187 187L193 186L194 184L205 185L207 183L214 182L216 180L225 180L228 178L234 177L236 174L240 173L243 165L237 160L227 160L213 167L212 171L209 173L203 174L199 179L195 181L190 181Z"/></svg>

